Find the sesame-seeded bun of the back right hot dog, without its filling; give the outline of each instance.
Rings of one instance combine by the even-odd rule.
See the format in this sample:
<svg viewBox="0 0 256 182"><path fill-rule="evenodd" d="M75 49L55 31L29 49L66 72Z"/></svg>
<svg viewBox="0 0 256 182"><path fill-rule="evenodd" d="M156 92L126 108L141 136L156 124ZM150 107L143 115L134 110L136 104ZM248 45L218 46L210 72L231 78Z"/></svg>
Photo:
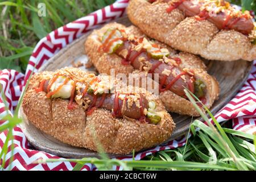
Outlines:
<svg viewBox="0 0 256 182"><path fill-rule="evenodd" d="M256 45L248 36L235 30L219 30L208 20L185 18L184 13L167 2L131 0L127 7L129 19L144 34L172 48L200 55L209 60L234 61L256 59Z"/></svg>

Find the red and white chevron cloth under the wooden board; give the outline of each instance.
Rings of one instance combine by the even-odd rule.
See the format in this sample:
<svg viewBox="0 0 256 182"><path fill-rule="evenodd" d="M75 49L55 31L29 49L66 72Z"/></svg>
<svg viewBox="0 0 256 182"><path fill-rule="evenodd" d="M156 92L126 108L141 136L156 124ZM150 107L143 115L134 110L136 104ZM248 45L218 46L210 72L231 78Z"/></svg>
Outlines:
<svg viewBox="0 0 256 182"><path fill-rule="evenodd" d="M49 60L50 57L55 55L73 40L79 38L86 31L95 28L98 24L108 22L125 14L126 6L129 0L119 0L113 5L107 6L104 9L98 10L88 16L80 18L74 22L52 31L45 38L41 39L36 45L34 52L32 53L26 74L18 73L14 70L4 69L0 71L0 84L3 87L3 93L7 98L7 107L9 111L5 111L5 107L0 97L0 119L6 115L6 112L13 113L15 106L18 104L20 93L22 92L23 85L32 72L34 65L36 64L35 72ZM236 97L229 102L223 109L217 114L216 118L218 122L233 119L233 128L239 131L245 131L246 133L256 133L256 61L254 62L253 70L248 80L243 85L240 92ZM3 121L0 120L0 126ZM11 157L11 151L6 155L5 168L13 170L72 170L75 163L69 162L57 162L47 164L34 164L38 159L59 159L58 156L47 154L43 151L32 150L26 137L20 130L19 126L16 126L13 130L14 134L14 161L9 164ZM0 133L0 151L3 147L3 143L6 140L7 131ZM152 154L153 152L166 150L170 148L176 148L183 146L185 138L176 139L161 146L152 148L146 152L139 153L135 156L136 160L144 158L144 156ZM10 146L9 142L9 146ZM131 160L131 156L124 156L119 158L123 160ZM0 159L1 162L2 159ZM11 165L11 166L10 166ZM96 167L92 164L86 164L82 170L95 170ZM120 169L114 167L114 169Z"/></svg>

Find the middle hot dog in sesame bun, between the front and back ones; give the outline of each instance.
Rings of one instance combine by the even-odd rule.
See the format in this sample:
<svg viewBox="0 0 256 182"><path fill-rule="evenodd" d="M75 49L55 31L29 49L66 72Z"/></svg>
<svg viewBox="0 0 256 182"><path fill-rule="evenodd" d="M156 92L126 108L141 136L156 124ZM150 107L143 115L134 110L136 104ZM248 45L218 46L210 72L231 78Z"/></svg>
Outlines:
<svg viewBox="0 0 256 182"><path fill-rule="evenodd" d="M142 76L158 74L160 99L169 111L198 115L184 89L208 107L219 93L217 81L206 73L199 57L182 52L175 54L170 47L143 36L134 26L110 23L93 31L85 42L85 52L100 73L109 74L114 68L115 73L126 75L133 71Z"/></svg>

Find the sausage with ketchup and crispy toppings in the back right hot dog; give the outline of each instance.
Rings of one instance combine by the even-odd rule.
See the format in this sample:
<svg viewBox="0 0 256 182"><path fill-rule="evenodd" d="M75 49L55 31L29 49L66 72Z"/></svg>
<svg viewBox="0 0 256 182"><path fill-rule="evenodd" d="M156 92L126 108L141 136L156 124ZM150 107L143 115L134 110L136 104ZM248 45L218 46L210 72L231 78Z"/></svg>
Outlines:
<svg viewBox="0 0 256 182"><path fill-rule="evenodd" d="M170 7L168 7L167 9L168 13L177 8L183 11L185 16L187 17L197 16L200 15L200 13L201 15L203 15L202 6L204 5L204 3L207 3L207 1L188 0L164 0L163 2L170 4ZM245 35L251 34L251 31L253 31L254 28L254 24L252 20L253 17L248 12L246 14L242 14L240 11L235 10L232 6L229 5L228 2L225 1L220 1L219 4L220 6L224 6L226 9L219 12L214 12L213 8L215 7L217 10L218 6L215 2L212 2L211 5L214 5L212 7L212 11L205 12L206 14L204 14L204 17L201 17L201 19L209 20L210 22L214 23L220 30L233 29ZM210 5L208 5L208 7L209 6ZM212 13L212 15L209 15L210 13ZM200 20L200 17L198 19Z"/></svg>

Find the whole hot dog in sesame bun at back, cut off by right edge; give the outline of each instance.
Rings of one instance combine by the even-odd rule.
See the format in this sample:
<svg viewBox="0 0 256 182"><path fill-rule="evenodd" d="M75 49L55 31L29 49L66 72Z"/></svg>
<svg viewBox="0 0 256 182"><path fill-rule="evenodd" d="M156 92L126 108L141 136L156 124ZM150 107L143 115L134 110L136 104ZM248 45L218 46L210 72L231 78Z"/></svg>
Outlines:
<svg viewBox="0 0 256 182"><path fill-rule="evenodd" d="M209 60L256 59L252 16L226 1L131 0L127 14L144 34L179 51Z"/></svg>

